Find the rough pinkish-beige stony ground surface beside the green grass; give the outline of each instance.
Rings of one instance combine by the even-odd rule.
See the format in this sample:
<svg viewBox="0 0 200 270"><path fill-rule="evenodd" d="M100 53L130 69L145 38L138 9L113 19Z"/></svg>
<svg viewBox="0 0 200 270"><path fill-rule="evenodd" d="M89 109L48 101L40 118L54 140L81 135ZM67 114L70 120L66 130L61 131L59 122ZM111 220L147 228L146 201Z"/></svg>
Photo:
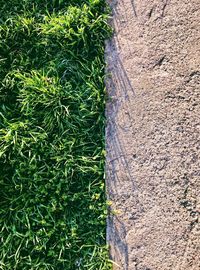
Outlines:
<svg viewBox="0 0 200 270"><path fill-rule="evenodd" d="M199 270L200 0L109 4L107 237L114 269Z"/></svg>

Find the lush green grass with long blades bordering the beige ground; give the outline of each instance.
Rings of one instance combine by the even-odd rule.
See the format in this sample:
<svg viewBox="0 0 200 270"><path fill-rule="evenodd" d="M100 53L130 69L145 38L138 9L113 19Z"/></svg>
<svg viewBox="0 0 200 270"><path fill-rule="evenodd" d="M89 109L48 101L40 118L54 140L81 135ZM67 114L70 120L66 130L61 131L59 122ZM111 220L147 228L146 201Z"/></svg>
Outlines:
<svg viewBox="0 0 200 270"><path fill-rule="evenodd" d="M105 1L0 7L0 269L111 269Z"/></svg>

